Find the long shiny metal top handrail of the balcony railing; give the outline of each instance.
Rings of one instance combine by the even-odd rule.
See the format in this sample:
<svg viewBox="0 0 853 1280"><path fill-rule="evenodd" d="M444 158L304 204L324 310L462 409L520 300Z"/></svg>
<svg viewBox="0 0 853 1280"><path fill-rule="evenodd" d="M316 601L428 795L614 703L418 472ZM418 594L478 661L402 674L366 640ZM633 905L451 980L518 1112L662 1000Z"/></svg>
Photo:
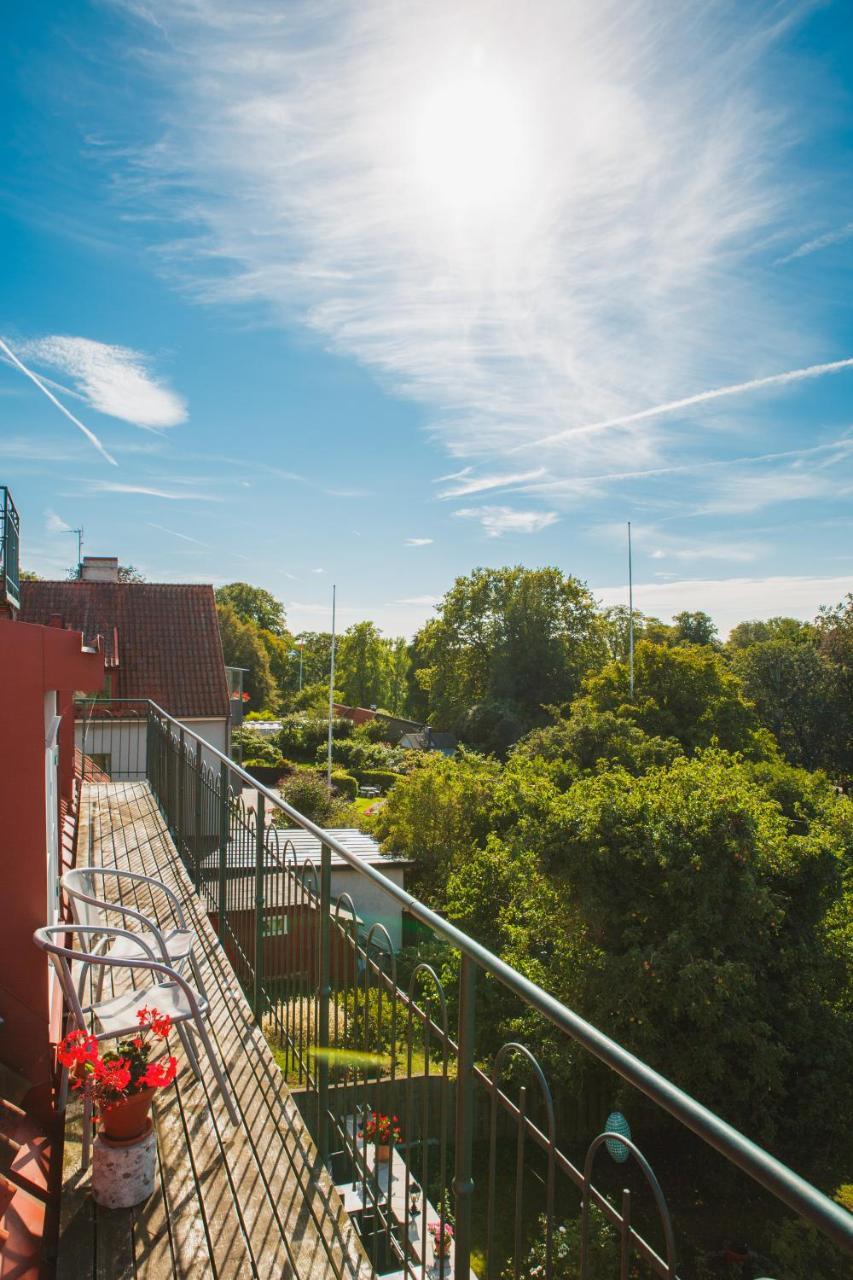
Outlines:
<svg viewBox="0 0 853 1280"><path fill-rule="evenodd" d="M83 704L91 701L92 705L99 705L100 700L81 699L79 701ZM195 739L196 742L202 745L205 753L215 756L220 764L225 764L231 773L243 778L252 790L256 790L266 801L283 810L288 818L293 819L296 826L315 836L320 845L327 845L352 867L353 870L359 872L366 879L373 881L374 884L410 911L415 919L433 929L439 937L487 973L492 973L505 987L548 1018L555 1027L571 1036L573 1039L580 1043L594 1057L610 1066L665 1111L669 1111L670 1115L675 1116L681 1124L707 1142L708 1146L724 1155L731 1164L743 1169L744 1172L766 1187L780 1201L788 1204L789 1208L813 1222L841 1248L853 1252L853 1215L816 1187L812 1187L811 1183L806 1181L804 1178L800 1178L799 1174L794 1172L794 1170L789 1169L775 1156L771 1156L763 1147L752 1142L751 1138L747 1138L701 1102L697 1102L695 1098L692 1098L676 1084L672 1084L666 1076L622 1048L621 1044L617 1044L578 1014L574 1014L544 991L544 988L530 982L529 978L525 978L516 969L512 969L511 965L507 965L500 956L496 956L487 947L469 937L467 933L464 933L455 924L451 924L443 916L425 906L419 899L407 893L398 884L394 884L393 881L383 876L375 867L369 865L357 854L348 850L329 831L319 827L310 818L301 814L298 809L282 800L269 787L254 778L242 765L213 746L190 724L175 719L174 716L170 716L152 701L152 699L114 698L109 699L109 701L132 703L136 705L147 704L160 719L183 731L184 737L188 735Z"/></svg>

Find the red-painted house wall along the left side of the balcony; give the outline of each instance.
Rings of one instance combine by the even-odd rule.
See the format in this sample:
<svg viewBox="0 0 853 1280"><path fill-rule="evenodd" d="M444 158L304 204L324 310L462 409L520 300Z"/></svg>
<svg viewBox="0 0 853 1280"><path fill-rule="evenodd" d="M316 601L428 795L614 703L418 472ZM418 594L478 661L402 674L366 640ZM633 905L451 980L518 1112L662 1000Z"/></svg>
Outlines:
<svg viewBox="0 0 853 1280"><path fill-rule="evenodd" d="M32 942L47 911L45 694L59 694L59 786L70 800L73 698L101 690L104 657L83 653L77 631L0 620L0 1061L37 1084L53 1065L47 972Z"/></svg>

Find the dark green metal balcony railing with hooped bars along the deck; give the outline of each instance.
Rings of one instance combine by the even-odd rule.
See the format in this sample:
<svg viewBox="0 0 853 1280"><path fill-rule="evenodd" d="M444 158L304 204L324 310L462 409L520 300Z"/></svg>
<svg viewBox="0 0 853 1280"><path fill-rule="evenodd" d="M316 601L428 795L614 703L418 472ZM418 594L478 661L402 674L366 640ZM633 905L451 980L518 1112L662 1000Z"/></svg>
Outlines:
<svg viewBox="0 0 853 1280"><path fill-rule="evenodd" d="M678 1121L666 1135L670 1149L674 1130L681 1134L676 1148L679 1142L690 1147L690 1134L701 1140L704 1155L688 1165L679 1160L678 1172L658 1151L656 1162L670 1167L676 1190L685 1170L688 1181L713 1181L708 1162L716 1152L721 1184L731 1183L724 1162L752 1183L752 1189L744 1183L745 1190L731 1190L730 1201L754 1198L763 1188L772 1197L763 1210L768 1217L786 1206L834 1242L839 1260L853 1253L853 1215L840 1204L154 703L90 701L79 704L78 717L77 745L93 785L150 783L360 1228L374 1274L517 1280L535 1272L544 1280L575 1274L592 1280L596 1233L622 1280L690 1280L698 1272L693 1260L679 1257L674 1215L651 1162L621 1116L608 1116L612 1126L602 1129L612 1110L607 1097L612 1101L625 1084L653 1147L660 1148L660 1124L648 1117L661 1112ZM251 805L246 788L256 796ZM314 837L315 852L306 854L295 831ZM398 915L416 922L437 956L394 948ZM532 1016L549 1023L566 1052L580 1047L624 1082L615 1084L607 1074L601 1098L587 1094L592 1116L573 1114L573 1100L552 1091L520 1039L483 1051L493 984L517 998L519 1027ZM384 1160L370 1140L371 1114L393 1117L400 1130ZM566 1149L573 1146L574 1160ZM697 1172L699 1165L704 1172ZM736 1220L736 1203L727 1212ZM634 1226L638 1213L648 1219L654 1243ZM579 1270L566 1271L558 1261L561 1222L573 1219L580 1260ZM451 1222L452 1248L439 1256L433 1236L443 1238ZM770 1275L772 1263L761 1261L753 1274Z"/></svg>

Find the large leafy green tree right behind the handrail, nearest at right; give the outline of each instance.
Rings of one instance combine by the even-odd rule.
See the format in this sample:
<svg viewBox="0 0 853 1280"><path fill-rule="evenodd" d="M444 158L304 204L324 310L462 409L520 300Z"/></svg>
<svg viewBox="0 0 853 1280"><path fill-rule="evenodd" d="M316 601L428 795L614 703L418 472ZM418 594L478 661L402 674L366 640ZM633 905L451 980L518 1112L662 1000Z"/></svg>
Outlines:
<svg viewBox="0 0 853 1280"><path fill-rule="evenodd" d="M843 1130L826 1094L853 1052L849 822L834 797L793 833L749 765L711 750L583 778L506 838L596 950L580 1011L751 1134L813 1153Z"/></svg>

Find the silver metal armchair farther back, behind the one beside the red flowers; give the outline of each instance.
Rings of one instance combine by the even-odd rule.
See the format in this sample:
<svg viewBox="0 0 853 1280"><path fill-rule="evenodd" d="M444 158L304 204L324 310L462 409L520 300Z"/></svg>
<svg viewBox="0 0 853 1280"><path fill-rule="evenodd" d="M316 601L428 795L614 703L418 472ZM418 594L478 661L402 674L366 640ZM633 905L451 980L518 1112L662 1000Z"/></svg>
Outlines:
<svg viewBox="0 0 853 1280"><path fill-rule="evenodd" d="M119 892L124 884L132 886L137 902L140 890L143 886L147 887L152 910L140 911L138 906L131 908L126 902L108 899L105 896L108 881L114 883ZM95 928L109 927L109 915L113 914L122 916L123 923L133 920L142 927L141 932L137 933L132 924L124 923L133 938L117 938L105 952L106 955L122 960L143 960L147 950L143 950L141 943L145 943L146 948L159 952L159 959L174 969L181 970L188 961L196 987L206 998L201 969L193 951L196 934L187 924L179 897L163 881L155 879L152 876L143 876L141 872L124 872L113 867L78 867L72 872L65 872L60 883L68 895L77 924L88 924ZM172 913L172 920L168 924L154 914L160 895L167 900Z"/></svg>

